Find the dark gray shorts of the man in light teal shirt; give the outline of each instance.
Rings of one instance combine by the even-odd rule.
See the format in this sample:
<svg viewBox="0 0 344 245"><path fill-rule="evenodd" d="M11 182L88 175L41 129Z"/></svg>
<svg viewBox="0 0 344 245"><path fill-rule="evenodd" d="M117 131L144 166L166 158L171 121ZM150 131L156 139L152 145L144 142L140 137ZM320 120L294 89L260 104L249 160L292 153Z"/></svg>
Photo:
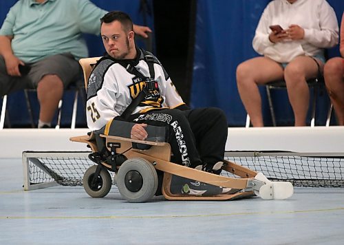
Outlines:
<svg viewBox="0 0 344 245"><path fill-rule="evenodd" d="M67 87L70 83L76 81L81 73L78 61L69 53L48 56L41 61L28 65L30 65L31 69L27 75L21 77L8 76L5 62L3 57L0 56L1 96L19 89L36 88L43 76L52 74L58 76L63 82L63 86Z"/></svg>

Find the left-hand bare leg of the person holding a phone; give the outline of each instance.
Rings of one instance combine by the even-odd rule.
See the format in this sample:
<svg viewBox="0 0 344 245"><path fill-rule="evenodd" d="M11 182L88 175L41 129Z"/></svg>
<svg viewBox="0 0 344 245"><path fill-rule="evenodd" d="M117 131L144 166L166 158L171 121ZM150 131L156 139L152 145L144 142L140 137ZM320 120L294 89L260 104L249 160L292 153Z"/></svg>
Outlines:
<svg viewBox="0 0 344 245"><path fill-rule="evenodd" d="M258 85L283 78L283 68L270 58L257 57L237 67L237 87L253 127L263 127Z"/></svg>

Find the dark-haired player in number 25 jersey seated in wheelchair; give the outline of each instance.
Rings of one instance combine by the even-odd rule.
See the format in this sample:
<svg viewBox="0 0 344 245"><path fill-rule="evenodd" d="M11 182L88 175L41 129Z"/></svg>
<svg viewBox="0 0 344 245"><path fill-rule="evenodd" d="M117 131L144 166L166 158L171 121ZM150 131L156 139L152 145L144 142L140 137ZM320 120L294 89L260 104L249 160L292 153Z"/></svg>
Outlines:
<svg viewBox="0 0 344 245"><path fill-rule="evenodd" d="M219 174L228 131L224 113L216 108L186 107L158 59L136 47L127 14L105 14L100 30L107 55L89 76L89 129L111 135L120 130L116 122L127 120L134 122L130 137L146 140L147 125L166 127L175 163ZM124 113L142 90L142 101Z"/></svg>

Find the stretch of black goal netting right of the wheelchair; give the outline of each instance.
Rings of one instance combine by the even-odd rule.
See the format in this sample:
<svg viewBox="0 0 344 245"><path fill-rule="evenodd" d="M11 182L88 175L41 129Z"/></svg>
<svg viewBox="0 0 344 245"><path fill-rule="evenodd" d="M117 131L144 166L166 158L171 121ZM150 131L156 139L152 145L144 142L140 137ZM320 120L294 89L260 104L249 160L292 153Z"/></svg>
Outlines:
<svg viewBox="0 0 344 245"><path fill-rule="evenodd" d="M270 180L292 182L295 187L344 187L344 156L228 155L226 160L264 173Z"/></svg>

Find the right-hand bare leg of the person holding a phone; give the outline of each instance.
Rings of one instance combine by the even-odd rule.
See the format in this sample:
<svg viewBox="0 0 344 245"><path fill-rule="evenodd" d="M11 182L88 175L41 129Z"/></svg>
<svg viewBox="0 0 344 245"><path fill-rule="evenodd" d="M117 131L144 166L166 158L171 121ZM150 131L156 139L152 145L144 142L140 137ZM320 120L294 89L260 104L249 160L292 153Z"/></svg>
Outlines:
<svg viewBox="0 0 344 245"><path fill-rule="evenodd" d="M323 63L319 61L321 68ZM294 111L295 126L305 126L305 119L310 103L310 90L306 80L316 77L318 66L314 60L308 56L298 56L294 58L284 71L288 97L292 110Z"/></svg>

